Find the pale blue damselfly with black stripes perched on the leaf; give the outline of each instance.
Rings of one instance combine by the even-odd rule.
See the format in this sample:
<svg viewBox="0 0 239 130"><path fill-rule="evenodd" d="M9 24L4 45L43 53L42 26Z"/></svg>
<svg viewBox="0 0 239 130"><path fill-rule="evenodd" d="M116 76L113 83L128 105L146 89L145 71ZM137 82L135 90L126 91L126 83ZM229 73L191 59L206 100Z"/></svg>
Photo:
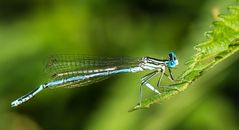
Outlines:
<svg viewBox="0 0 239 130"><path fill-rule="evenodd" d="M141 103L142 87L145 85L153 92L160 94L160 92L149 83L149 80L159 73L161 73L161 75L158 79L157 87L160 87L160 82L164 75L174 80L171 69L177 65L178 60L174 52L170 52L167 59L156 59L147 56L143 58L112 58L57 55L51 57L47 63L48 69L52 71L53 80L40 85L30 93L13 101L11 106L15 107L28 101L46 88L80 87L105 80L118 73L151 70L152 72L141 78L139 101ZM169 75L165 73L166 68L169 71Z"/></svg>

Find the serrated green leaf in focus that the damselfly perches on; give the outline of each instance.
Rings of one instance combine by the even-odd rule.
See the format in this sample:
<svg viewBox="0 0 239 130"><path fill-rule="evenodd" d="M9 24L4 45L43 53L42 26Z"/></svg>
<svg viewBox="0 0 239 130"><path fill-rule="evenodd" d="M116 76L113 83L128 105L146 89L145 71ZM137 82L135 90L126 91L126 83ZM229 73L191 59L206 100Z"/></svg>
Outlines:
<svg viewBox="0 0 239 130"><path fill-rule="evenodd" d="M219 62L239 50L239 5L228 7L228 13L220 15L212 23L212 29L205 33L207 40L194 46L195 54L186 62L186 70L175 84L161 88L160 95L151 96L136 105L130 111L149 108L173 95L187 89L191 83L202 76L202 73L213 68Z"/></svg>

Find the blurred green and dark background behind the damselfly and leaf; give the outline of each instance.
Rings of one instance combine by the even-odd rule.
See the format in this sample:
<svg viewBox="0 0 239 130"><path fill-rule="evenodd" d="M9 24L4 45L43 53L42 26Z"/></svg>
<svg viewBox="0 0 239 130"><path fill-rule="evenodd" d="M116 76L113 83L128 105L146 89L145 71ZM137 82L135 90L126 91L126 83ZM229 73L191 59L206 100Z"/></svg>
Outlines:
<svg viewBox="0 0 239 130"><path fill-rule="evenodd" d="M20 107L10 107L11 101L49 80L44 61L52 54L164 58L175 51L180 61L173 70L177 77L217 13L225 13L234 2L1 1L0 129L238 130L236 54L187 91L146 110L127 112L138 101L139 78L145 73L121 74L82 88L45 90Z"/></svg>

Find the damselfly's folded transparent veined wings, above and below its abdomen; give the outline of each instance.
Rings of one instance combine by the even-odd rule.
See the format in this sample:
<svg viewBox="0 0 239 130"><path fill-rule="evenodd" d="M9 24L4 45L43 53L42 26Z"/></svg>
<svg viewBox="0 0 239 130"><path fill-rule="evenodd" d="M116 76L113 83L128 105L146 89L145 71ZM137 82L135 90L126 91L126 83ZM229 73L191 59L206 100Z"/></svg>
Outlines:
<svg viewBox="0 0 239 130"><path fill-rule="evenodd" d="M73 76L89 75L115 69L136 67L140 58L126 57L98 57L84 55L54 55L46 64L46 70L53 80L70 78ZM79 87L93 84L109 78L110 76L97 76L75 82L69 82L57 87Z"/></svg>

